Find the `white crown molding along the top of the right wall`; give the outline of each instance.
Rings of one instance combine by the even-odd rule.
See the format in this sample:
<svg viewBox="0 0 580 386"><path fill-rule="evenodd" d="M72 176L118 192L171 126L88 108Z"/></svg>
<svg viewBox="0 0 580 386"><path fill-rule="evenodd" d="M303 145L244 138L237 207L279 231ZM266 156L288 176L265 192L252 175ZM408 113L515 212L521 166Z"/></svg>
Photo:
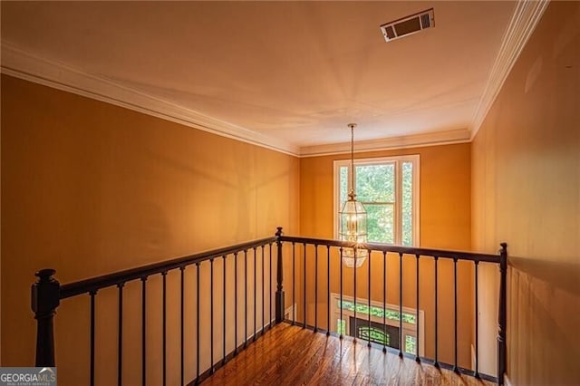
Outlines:
<svg viewBox="0 0 580 386"><path fill-rule="evenodd" d="M542 18L548 4L549 0L520 0L517 2L514 14L507 25L498 56L489 72L486 88L479 99L478 108L473 117L470 140L473 140L478 133L489 109L498 97L501 87L506 82L507 75L516 63L527 39L536 29L536 25Z"/></svg>

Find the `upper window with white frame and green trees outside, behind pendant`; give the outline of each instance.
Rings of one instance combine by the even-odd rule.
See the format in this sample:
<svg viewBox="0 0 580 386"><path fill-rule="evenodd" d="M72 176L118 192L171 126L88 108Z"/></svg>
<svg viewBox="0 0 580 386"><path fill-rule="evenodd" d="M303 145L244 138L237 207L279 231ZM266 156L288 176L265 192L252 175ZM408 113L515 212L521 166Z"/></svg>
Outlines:
<svg viewBox="0 0 580 386"><path fill-rule="evenodd" d="M367 211L368 241L419 246L419 155L334 161L334 233L336 214L354 181L356 199Z"/></svg>

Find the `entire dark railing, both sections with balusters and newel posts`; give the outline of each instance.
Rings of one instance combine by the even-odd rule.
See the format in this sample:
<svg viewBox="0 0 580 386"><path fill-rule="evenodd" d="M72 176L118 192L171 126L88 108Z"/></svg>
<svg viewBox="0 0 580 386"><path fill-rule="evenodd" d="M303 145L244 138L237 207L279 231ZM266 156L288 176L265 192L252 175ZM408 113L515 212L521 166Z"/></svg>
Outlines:
<svg viewBox="0 0 580 386"><path fill-rule="evenodd" d="M289 245L290 247L285 247L285 245ZM302 246L303 248L303 256L302 260L304 263L304 270L302 271L302 275L297 275L296 272L296 261L298 256L296 255L296 246ZM311 246L310 253L307 253L307 246ZM314 246L314 248L312 247ZM38 281L32 286L32 308L35 314L35 319L37 320L37 337L36 337L36 366L54 366L56 364L55 356L54 356L54 338L53 338L53 316L57 307L59 306L61 300L79 296L79 295L89 295L90 300L90 324L89 324L89 332L88 332L88 339L90 340L90 373L87 375L88 383L91 385L95 384L95 300L98 296L98 293L103 288L108 287L117 287L117 298L118 298L118 312L117 312L117 325L118 325L118 356L117 356L117 383L119 385L123 382L123 287L129 282L139 282L141 285L141 379L142 384L146 384L147 380L147 333L146 333L146 323L147 323L147 279L153 275L160 275L162 280L162 306L161 306L161 320L162 320L162 380L163 384L166 384L167 380L167 357L166 357L166 348L167 348L167 320L168 317L171 315L167 314L167 287L166 287L166 278L169 271L178 270L179 277L180 277L180 285L179 285L179 299L180 299L180 307L179 307L179 318L180 318L180 384L198 384L200 381L203 381L205 378L210 376L213 372L215 372L219 367L223 366L231 357L237 355L237 352L243 350L247 347L247 344L251 341L255 341L257 337L262 335L266 332L266 330L270 329L274 323L281 323L281 322L288 322L288 323L297 323L302 324L304 327L309 327L317 331L324 331L327 334L337 334L341 338L345 332L343 331L336 331L332 328L330 323L330 314L331 314L331 259L333 259L334 264L336 264L336 260L340 258L342 260L343 257L343 250L345 248L362 248L368 251L368 259L369 263L367 266L368 270L368 307L371 307L371 287L372 283L371 280L379 280L380 284L382 285L382 303L386 306L386 267L387 261L389 258L399 258L400 261L400 273L399 273L399 355L407 355L408 353L404 353L402 349L402 315L403 315L403 302L402 302L402 294L403 294L403 280L402 280L402 265L403 265L403 256L414 256L417 259L416 264L416 328L417 328L417 336L420 333L420 318L419 318L419 309L420 309L420 259L432 259L435 266L435 276L434 276L434 303L435 303L435 350L434 350L434 357L426 357L420 356L420 346L419 341L417 341L417 347L415 350L414 358L418 362L429 362L434 364L435 366L441 366L445 368L449 368L454 370L455 372L461 372L464 374L473 375L475 377L481 377L491 381L498 381L498 384L503 384L503 375L506 371L506 268L507 268L507 245L502 244L502 249L498 255L485 255L485 254L475 254L469 252L457 252L457 251L445 251L445 250L438 250L438 249L427 249L427 248L413 248L413 247L402 247L402 246L389 246L384 244L365 244L365 245L353 245L352 243L346 243L336 240L326 240L326 239L317 239L317 238L307 238L307 237L296 237L296 236L284 236L282 234L282 228L279 227L275 236L273 237L266 237L263 239L251 241L244 244L239 244L237 246L228 246L225 248L220 248L196 255L191 256L184 256L178 259L173 259L157 264L152 265L145 265L138 268L133 268L121 272L117 272L110 275L102 275L98 277L93 277L87 280L82 280L79 282L71 283L68 285L60 285L58 281L53 277L55 275L55 270L53 269L43 269L36 273L38 276ZM285 256L284 251L289 251L291 248L290 256ZM325 329L324 326L318 325L318 294L320 289L322 288L321 285L318 285L318 280L320 273L318 272L319 269L319 249L325 250L326 255L326 284L327 284L327 293L326 293L326 325ZM314 254L312 254L314 252ZM248 273L247 263L248 259L250 263L253 263L252 266L254 268L254 272ZM376 265L377 261L382 259L382 275L377 275L373 273L371 275L371 266L372 264ZM440 319L439 315L439 285L438 285L438 262L440 259L448 259L453 263L454 267L454 361L452 363L441 362L440 358L438 357L438 345L439 345L439 336L438 332L438 323ZM216 274L214 272L214 261L222 260L222 272ZM233 260L233 270L230 269L229 272L227 270L227 261ZM238 260L243 260L238 261ZM479 263L490 263L496 264L499 266L499 275L500 275L500 288L499 288L499 313L498 313L498 377L492 377L487 374L483 374L478 371L478 318L475 318L475 368L472 370L461 368L458 364L458 270L457 265L459 261L469 261L474 264L475 270L475 314L478 314L478 265ZM314 264L314 274L311 272L309 273L307 270L306 262L311 262ZM266 263L268 267L268 272L265 272ZM372 263L373 262L373 263ZM241 267L243 263L243 269ZM199 328L199 317L200 317L200 310L199 310L199 282L200 282L200 267L201 265L209 265L209 280L210 280L210 288L211 291L209 293L209 304L210 304L210 321L209 321L209 330L201 332ZM230 265L232 265L230 263ZM340 282L340 289L338 290L340 296L340 304L343 305L343 275L344 275L344 268L343 264L340 263L338 260L337 264L339 268L339 278L338 281ZM256 272L257 267L261 267L261 275ZM186 269L195 269L195 283L197 285L197 309L196 315L197 321L196 325L196 371L195 371L195 378L192 381L186 381L185 379L185 363L184 363L184 330L186 329L186 325L184 322L184 296L186 292L186 288L184 285L184 277ZM359 268L364 269L364 268ZM359 305L357 303L357 294L356 294L356 279L357 279L357 271L359 269L352 269L353 271L353 299L354 299L354 323L356 331L356 323L358 319L356 318L356 312ZM291 294L285 296L285 286L284 286L284 279L285 273L284 270L289 271L287 272L287 277L292 277L289 282L291 285ZM233 271L233 272L232 272ZM275 271L275 273L274 273ZM238 283L238 276L243 273L242 281L243 283ZM233 274L233 275L232 275ZM220 354L218 354L217 358L214 358L217 354L214 352L214 343L215 343L215 335L214 335L214 317L217 312L214 310L214 278L216 275L221 275L220 278L223 284L223 291L221 293L221 301L223 304L223 310L221 310L221 315L218 312L218 316L221 316L222 321L222 339L223 344L221 348ZM306 310L306 283L307 278L313 277L314 275L314 323L308 323L307 318L307 310ZM335 275L335 273L334 273ZM359 274L360 275L360 274ZM257 291L257 279L258 277L261 279L262 284L259 286L261 289L260 294ZM275 288L273 288L273 281L275 277ZM324 277L324 275L323 275ZM233 309L227 308L226 297L227 297L227 289L226 284L228 280L234 280L233 285L233 295L234 298L234 306ZM253 280L253 283L252 283ZM267 282L266 282L267 280ZM267 285L266 283L269 283ZM301 303L298 301L295 295L297 285L304 285L304 292L303 292L303 300L304 302ZM243 311L241 310L241 305L238 304L238 288L242 286L244 292L244 304L243 304ZM253 315L248 315L248 287L250 288L250 296L253 295L254 297L254 310ZM231 292L230 291L230 292ZM259 297L261 297L261 302ZM251 300L251 299L250 299ZM261 304L262 309L257 310L257 304ZM324 302L323 302L324 303ZM266 308L266 305L269 304L269 307ZM288 314L288 310L286 309L286 305L291 304L291 312ZM298 305L300 304L300 305ZM300 313L297 312L297 308L303 307L304 313L302 314L302 321L300 321ZM251 306L250 306L251 308ZM274 308L274 313L273 313ZM343 317L341 308L341 319ZM383 308L383 326L386 328L386 321L384 320L385 317L385 308ZM261 314L261 326L257 325L257 313ZM266 315L268 319L266 320ZM285 315L288 315L286 318ZM248 325L248 318L253 321L253 326ZM227 352L227 323L233 323L235 337L233 342L234 349L230 352ZM237 323L244 324L244 336L238 336L238 328ZM368 314L368 323L369 328L371 327L371 315ZM248 327L253 327L248 333ZM203 333L204 335L209 334L210 336L210 349L209 352L204 352L204 355L209 354L209 366L207 369L201 369L199 359L200 359L200 334ZM241 338L241 341L240 341ZM354 337L356 340L356 336ZM241 343L241 344L240 344ZM376 345L376 343L372 343L372 340L368 338L368 345ZM231 346L231 344L229 344ZM382 345L383 351L392 351L390 347L387 346L386 343ZM219 356L220 355L220 356ZM218 361L216 361L218 359Z"/></svg>

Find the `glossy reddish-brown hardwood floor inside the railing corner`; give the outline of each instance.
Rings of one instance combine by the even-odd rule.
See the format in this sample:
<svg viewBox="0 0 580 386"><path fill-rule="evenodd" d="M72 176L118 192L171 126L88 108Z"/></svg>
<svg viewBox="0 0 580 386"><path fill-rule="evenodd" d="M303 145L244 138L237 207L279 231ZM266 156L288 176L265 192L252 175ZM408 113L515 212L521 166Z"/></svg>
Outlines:
<svg viewBox="0 0 580 386"><path fill-rule="evenodd" d="M468 375L438 370L335 336L277 324L204 385L468 385L488 386Z"/></svg>

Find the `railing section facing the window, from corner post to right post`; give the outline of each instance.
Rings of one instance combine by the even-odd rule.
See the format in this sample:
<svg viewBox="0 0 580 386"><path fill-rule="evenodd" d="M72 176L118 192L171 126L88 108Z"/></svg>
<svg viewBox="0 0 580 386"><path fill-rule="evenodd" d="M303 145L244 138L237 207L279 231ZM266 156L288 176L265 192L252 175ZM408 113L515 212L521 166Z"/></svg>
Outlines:
<svg viewBox="0 0 580 386"><path fill-rule="evenodd" d="M398 305L398 328L399 328L399 336L398 342L396 342L395 346L398 347L397 352L401 357L404 356L412 356L417 362L427 362L433 364L436 367L443 367L449 370L453 370L454 372L467 374L474 376L476 378L482 378L488 381L497 381L498 384L503 384L504 380L504 373L506 372L506 268L507 268L507 244L502 243L501 249L498 255L488 255L488 254L478 254L478 253L471 253L471 252L460 252L460 251L449 251L449 250L440 250L440 249L430 249L430 248L417 248L417 247L406 247L406 246L391 246L386 244L379 244L379 243L367 243L367 244L353 244L347 243L338 240L327 240L327 239L319 239L319 238L309 238L309 237L296 237L296 236L279 236L278 237L279 243L287 243L292 246L292 261L290 264L286 264L286 268L288 269L288 265L292 270L292 279L291 279L291 299L290 303L293 304L293 312L290 316L289 323L299 324L303 327L311 328L314 332L322 331L327 334L337 334L340 338L343 338L345 332L337 331L337 327L331 326L331 307L333 306L333 302L331 302L331 291L332 287L338 288L338 304L340 304L340 316L339 320L343 321L343 294L344 294L344 286L343 286L343 279L345 278L345 271L343 263L341 262L343 258L343 251L346 248L357 248L366 250L368 255L366 259L368 260L365 263L366 267L362 266L360 268L350 269L349 275L352 275L350 279L353 281L352 285L352 298L353 302L349 302L353 305L353 323L354 328L353 330L357 331L357 323L359 322L359 318L357 318L357 310L359 307L366 307L366 326L368 326L369 331L371 330L372 326L372 316L371 313L368 312L372 309L372 281L378 281L379 286L382 290L382 299L378 299L380 303L382 303L382 326L384 328L384 332L386 334L386 309L387 309L387 261L389 259L398 260L399 262L399 269L398 269L398 295L399 299L397 302ZM300 246L302 249L302 254L296 252L297 247ZM279 251L282 251L283 248L280 246L278 248ZM321 253L322 253L322 260L325 260L325 264L323 264L323 269L326 272L323 272L322 278L325 283L322 285L319 284L319 279L321 278L319 261L321 260ZM324 258L325 257L325 258ZM404 280L403 280L403 262L404 259L407 258L414 258L416 259L416 263L414 264L415 268L415 284L416 287L413 288L415 293L415 327L416 327L416 347L414 355L409 355L403 351L403 293L404 293ZM302 260L302 262L298 262L298 260ZM432 357L428 356L420 356L420 261L425 261L430 259L434 265L434 286L433 286L433 303L434 303L434 340L433 340L433 347L434 347L434 355ZM314 260L314 263L313 263ZM449 299L450 302L453 302L453 313L452 313L452 323L453 323L453 360L452 362L442 362L440 360L440 261L448 260L453 265L453 296L452 299ZM336 261L339 264L336 264ZM310 265L314 264L314 272L309 270L309 265L306 263L309 262ZM331 264L334 262L334 268L338 265L338 269L334 269L334 271L338 271L338 278L336 277L336 272L334 273L333 283L331 284ZM478 343L478 336L479 336L479 325L478 325L478 316L473 318L474 321L474 331L475 331L475 342L474 342L474 351L475 351L475 358L474 362L475 365L472 369L464 368L459 366L458 361L458 314L459 314L459 304L458 304L458 264L459 262L470 262L473 264L473 277L474 277L474 314L478 315L478 267L480 263L487 263L492 265L498 265L499 267L499 275L500 275L500 287L499 287L499 310L498 310L498 376L493 376L489 374L485 374L479 372L479 343ZM372 268L373 266L373 268ZM379 267L380 270L372 270L374 268ZM311 266L312 268L312 266ZM361 301L359 298L359 294L357 294L357 289L359 285L357 285L357 278L360 280L360 276L364 271L366 272L366 299L365 301ZM300 271L301 276L300 278L296 278L295 272ZM361 272L362 271L362 272ZM381 272L382 271L382 272ZM314 278L313 278L314 277ZM314 317L310 317L310 323L307 318L308 310L307 310L307 278L313 278L311 281L314 281ZM338 284L336 283L338 282ZM321 302L319 299L319 293L321 292L321 286L325 286L322 288L326 290L326 299L323 299ZM302 299L298 299L295 292L296 288L298 288L302 292ZM375 291L376 292L376 291ZM326 310L323 310L323 315L325 314L326 317L326 324L320 325L318 323L319 314L321 314L319 310L319 304L325 304ZM296 310L296 308L298 310ZM312 310L311 310L312 311ZM325 313L324 313L325 311ZM464 310L469 311L469 310ZM311 313L312 314L312 313ZM299 315L298 318L296 315ZM312 323L314 320L314 323ZM357 340L357 336L355 335L353 339ZM367 334L367 344L369 346L377 345L376 343L372 342L371 334ZM449 342L445 342L449 344ZM393 350L389 347L388 344L382 343L382 350L387 352Z"/></svg>

